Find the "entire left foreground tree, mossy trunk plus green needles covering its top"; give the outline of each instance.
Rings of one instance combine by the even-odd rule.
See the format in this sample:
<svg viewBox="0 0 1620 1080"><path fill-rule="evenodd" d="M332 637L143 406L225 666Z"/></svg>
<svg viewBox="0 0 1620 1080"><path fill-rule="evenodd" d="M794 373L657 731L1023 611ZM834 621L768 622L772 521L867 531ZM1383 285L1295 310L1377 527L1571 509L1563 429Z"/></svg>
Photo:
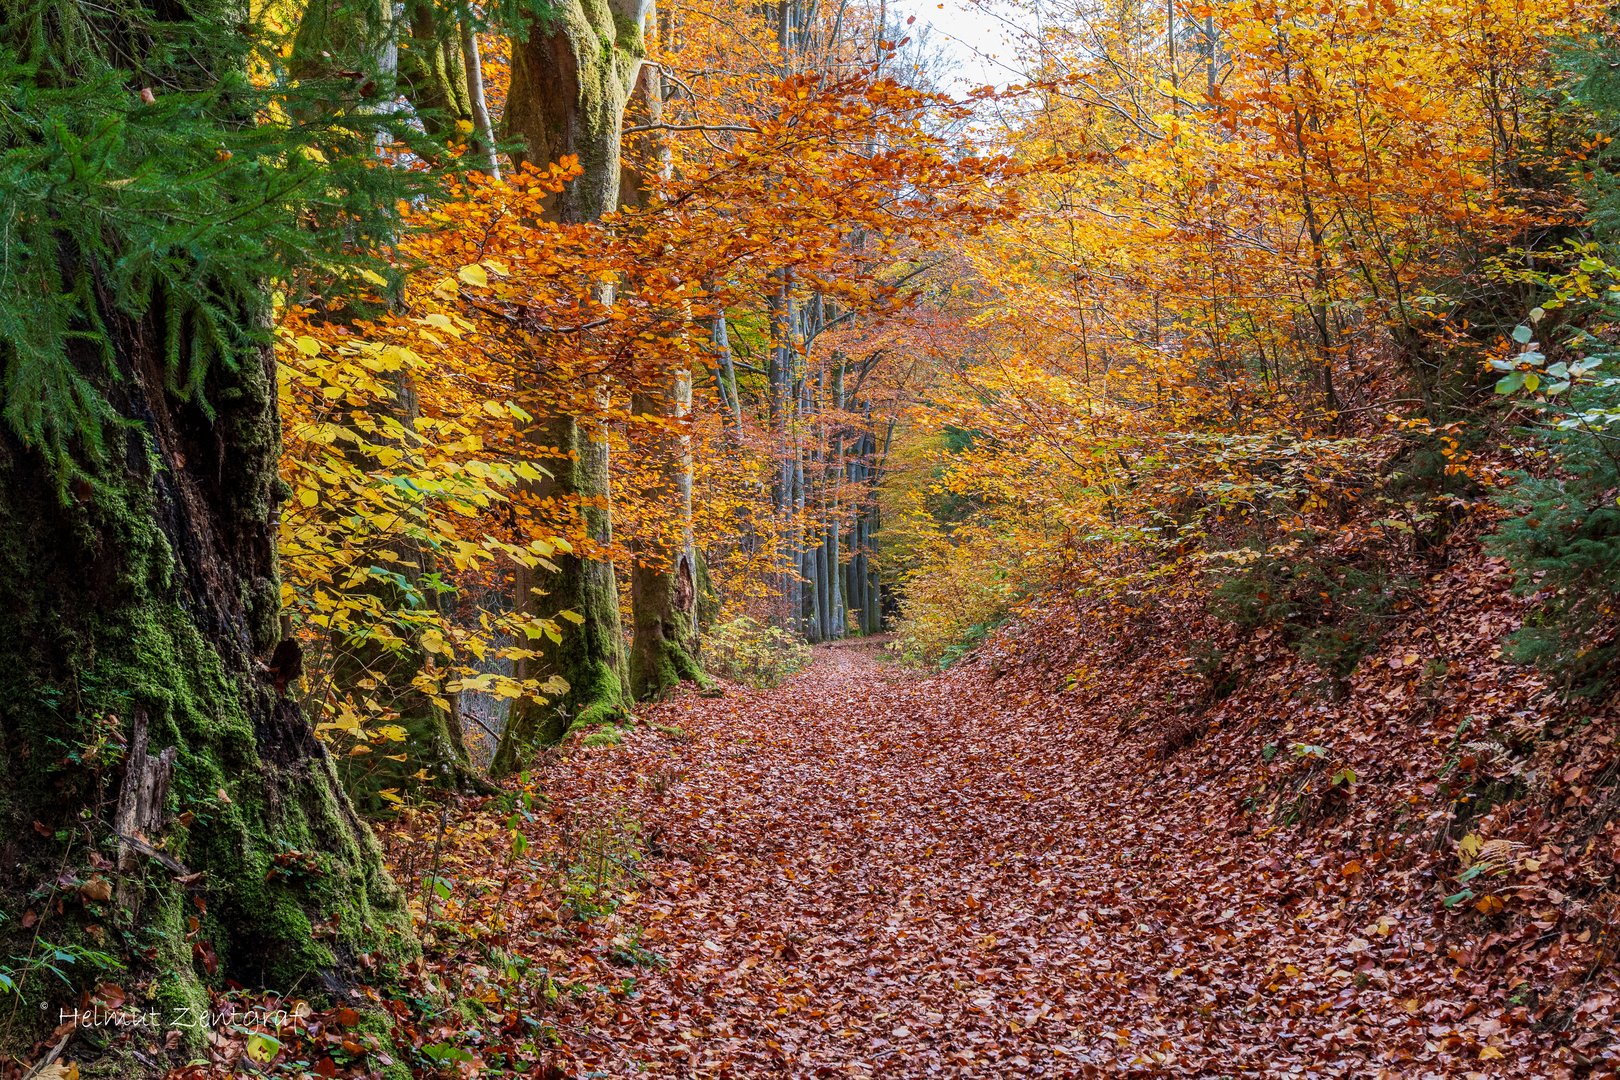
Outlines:
<svg viewBox="0 0 1620 1080"><path fill-rule="evenodd" d="M280 630L262 280L288 254L251 228L296 209L246 207L290 191L266 176L296 155L243 176L222 152L256 138L233 89L238 21L201 0L0 18L8 57L32 63L0 91L3 157L39 155L52 185L5 176L0 957L28 1007L0 1017L0 1052L26 1051L70 996L75 1002L117 981L159 1030L201 1040L209 986L347 996L416 952L376 839L287 698L300 654ZM91 168L104 154L117 186ZM122 212L97 202L143 188ZM104 1072L152 1065L120 1069Z"/></svg>

